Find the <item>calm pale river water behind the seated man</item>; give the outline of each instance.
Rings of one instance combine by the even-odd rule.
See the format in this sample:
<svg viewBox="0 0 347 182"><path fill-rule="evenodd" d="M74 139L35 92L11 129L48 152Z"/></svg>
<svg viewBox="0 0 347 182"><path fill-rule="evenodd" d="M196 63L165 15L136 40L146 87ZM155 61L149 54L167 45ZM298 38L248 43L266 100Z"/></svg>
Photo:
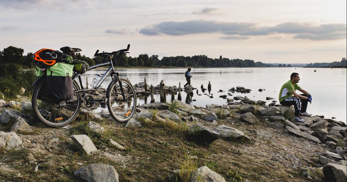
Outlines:
<svg viewBox="0 0 347 182"><path fill-rule="evenodd" d="M118 70L122 78L129 78L134 85L138 82L146 81L149 85L158 85L161 80L165 79L164 83L168 86L176 85L181 82L181 87L186 83L184 73L187 69L121 69ZM192 69L193 78L191 79L194 88L198 89L199 94L203 94L200 86L204 85L207 88L209 81L211 81L214 98L207 95L197 95L194 90L192 99L196 101L188 102L197 106L205 107L206 104L226 104L227 100L219 98L219 95L228 95L228 90L232 87L245 87L251 89L250 93L231 93L233 98L236 95L247 96L252 100L266 101L266 97L272 97L273 100L278 101L279 90L283 83L290 79L290 74L297 72L300 74L300 82L298 83L301 88L307 90L312 95L312 104L308 104L307 112L313 115L323 115L325 118L336 117L346 123L346 84L347 74L346 69L330 69L330 68L201 68ZM316 72L314 72L316 70ZM104 70L91 70L88 71L86 76L89 83L96 74L103 74ZM85 78L84 78L85 80ZM102 86L107 88L111 78L107 78ZM266 89L259 92L259 89ZM223 92L219 92L223 90ZM297 91L301 94L301 92ZM206 90L205 93L209 94ZM182 101L186 100L186 93L181 92ZM175 95L177 98L177 95ZM167 95L167 101L170 101L171 95ZM150 102L150 97L147 99ZM155 100L160 101L159 95L155 95ZM271 103L269 100L267 104ZM143 104L145 98L141 97L137 100L138 103ZM279 102L277 102L279 104Z"/></svg>

